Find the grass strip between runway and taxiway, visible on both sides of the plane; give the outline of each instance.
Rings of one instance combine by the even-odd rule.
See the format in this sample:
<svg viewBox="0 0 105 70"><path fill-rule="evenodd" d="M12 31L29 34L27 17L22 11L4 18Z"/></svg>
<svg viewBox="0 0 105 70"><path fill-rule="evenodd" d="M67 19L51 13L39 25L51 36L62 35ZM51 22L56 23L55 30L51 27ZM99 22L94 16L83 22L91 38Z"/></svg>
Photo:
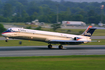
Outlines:
<svg viewBox="0 0 105 70"><path fill-rule="evenodd" d="M93 41L97 41L98 39L94 39ZM22 41L22 44L19 44L19 41ZM90 42L87 44L81 45L105 45L105 39L100 39L101 42ZM4 40L0 40L0 46L47 46L48 44L45 42L39 41L29 41L29 40L9 40L5 42Z"/></svg>

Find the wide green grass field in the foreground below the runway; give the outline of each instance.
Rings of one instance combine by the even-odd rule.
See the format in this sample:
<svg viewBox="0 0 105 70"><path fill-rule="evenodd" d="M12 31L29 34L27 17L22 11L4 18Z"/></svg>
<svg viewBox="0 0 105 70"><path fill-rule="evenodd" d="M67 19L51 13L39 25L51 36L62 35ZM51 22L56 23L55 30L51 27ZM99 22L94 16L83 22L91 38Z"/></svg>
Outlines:
<svg viewBox="0 0 105 70"><path fill-rule="evenodd" d="M0 70L105 70L104 55L0 57Z"/></svg>

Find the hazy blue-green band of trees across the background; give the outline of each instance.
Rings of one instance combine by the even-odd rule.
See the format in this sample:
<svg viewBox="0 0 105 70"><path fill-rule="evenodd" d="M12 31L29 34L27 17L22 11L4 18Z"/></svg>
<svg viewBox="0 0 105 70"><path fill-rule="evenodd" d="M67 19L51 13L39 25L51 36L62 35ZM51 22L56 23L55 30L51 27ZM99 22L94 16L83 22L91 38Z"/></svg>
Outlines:
<svg viewBox="0 0 105 70"><path fill-rule="evenodd" d="M51 0L0 0L0 22L40 22L84 21L105 23L105 2L54 2ZM102 15L102 16L101 16Z"/></svg>

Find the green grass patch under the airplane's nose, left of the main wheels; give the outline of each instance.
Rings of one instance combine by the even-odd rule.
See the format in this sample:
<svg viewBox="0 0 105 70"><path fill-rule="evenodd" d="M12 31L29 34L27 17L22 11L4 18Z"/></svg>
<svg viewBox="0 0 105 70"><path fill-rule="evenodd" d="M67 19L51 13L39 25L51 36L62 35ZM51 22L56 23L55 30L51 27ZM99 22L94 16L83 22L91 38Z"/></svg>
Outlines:
<svg viewBox="0 0 105 70"><path fill-rule="evenodd" d="M22 41L22 44L19 44L19 41ZM48 45L45 42L39 41L30 41L30 40L9 40L5 42L4 40L0 40L0 46L42 46Z"/></svg>

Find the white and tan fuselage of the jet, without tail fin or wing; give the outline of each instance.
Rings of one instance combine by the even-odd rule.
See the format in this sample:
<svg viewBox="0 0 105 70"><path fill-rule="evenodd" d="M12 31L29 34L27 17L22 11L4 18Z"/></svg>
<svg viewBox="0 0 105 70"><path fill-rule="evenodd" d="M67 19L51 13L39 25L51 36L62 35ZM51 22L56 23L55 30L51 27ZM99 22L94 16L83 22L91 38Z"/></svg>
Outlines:
<svg viewBox="0 0 105 70"><path fill-rule="evenodd" d="M2 33L2 35L6 38L8 37L16 39L29 39L29 40L38 40L46 42L50 40L74 40L75 37L79 37L81 39L77 39L78 41L91 41L90 37L81 36L81 35L72 35L72 34L57 33L57 32L23 29L23 28L9 28L8 30L12 31Z"/></svg>

